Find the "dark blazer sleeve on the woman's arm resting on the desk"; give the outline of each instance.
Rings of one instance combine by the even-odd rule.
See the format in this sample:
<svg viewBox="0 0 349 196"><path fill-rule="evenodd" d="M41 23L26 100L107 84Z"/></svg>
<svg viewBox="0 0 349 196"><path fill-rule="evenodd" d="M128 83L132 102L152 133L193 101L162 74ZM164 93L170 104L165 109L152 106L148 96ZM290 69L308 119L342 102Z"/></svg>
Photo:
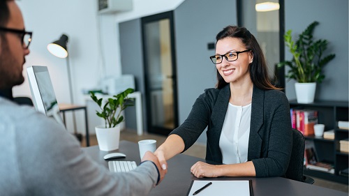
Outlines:
<svg viewBox="0 0 349 196"><path fill-rule="evenodd" d="M290 107L283 93L273 94L267 101L265 107L273 108L267 110L269 114L264 116L270 121L269 131L265 136L269 137L265 146L267 153L265 157L254 159L252 162L257 177L284 176L292 151Z"/></svg>

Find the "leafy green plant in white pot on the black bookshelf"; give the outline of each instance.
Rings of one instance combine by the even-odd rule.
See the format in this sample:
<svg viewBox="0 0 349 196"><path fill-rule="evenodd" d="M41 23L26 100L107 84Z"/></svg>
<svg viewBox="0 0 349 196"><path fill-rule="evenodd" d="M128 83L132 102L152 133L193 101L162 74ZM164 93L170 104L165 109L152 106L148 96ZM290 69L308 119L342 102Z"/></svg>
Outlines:
<svg viewBox="0 0 349 196"><path fill-rule="evenodd" d="M298 40L292 40L292 30L288 30L284 37L285 44L292 54L291 61L283 61L278 64L288 66L289 79L294 79L295 90L298 103L312 103L315 96L316 83L321 83L325 78L322 68L332 59L335 54L322 57L327 49L327 40L313 39L313 30L319 24L315 21L309 24L306 29L299 34Z"/></svg>

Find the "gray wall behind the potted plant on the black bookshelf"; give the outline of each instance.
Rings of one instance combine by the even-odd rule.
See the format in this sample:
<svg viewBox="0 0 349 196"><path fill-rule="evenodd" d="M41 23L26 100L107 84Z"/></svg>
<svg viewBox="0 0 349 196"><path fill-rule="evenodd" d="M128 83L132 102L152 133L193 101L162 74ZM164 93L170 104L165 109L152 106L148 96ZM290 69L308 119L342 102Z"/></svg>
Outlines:
<svg viewBox="0 0 349 196"><path fill-rule="evenodd" d="M292 29L292 36L298 36L315 20L320 24L315 27L314 38L327 39L326 53L336 54L323 70L325 80L317 84L315 99L348 101L348 0L285 1L285 31ZM292 59L288 47L285 59ZM289 99L296 97L294 83L285 86Z"/></svg>

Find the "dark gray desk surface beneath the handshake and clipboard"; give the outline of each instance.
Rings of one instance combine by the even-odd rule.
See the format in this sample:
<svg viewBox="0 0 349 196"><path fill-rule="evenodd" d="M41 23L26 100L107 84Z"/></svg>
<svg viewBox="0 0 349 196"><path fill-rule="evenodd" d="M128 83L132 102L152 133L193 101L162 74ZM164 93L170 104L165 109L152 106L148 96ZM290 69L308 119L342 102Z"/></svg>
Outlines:
<svg viewBox="0 0 349 196"><path fill-rule="evenodd" d="M91 146L83 148L84 151L91 156L92 159L96 160L101 165L107 167L107 161L103 159L107 153L100 151L98 146ZM126 158L121 158L118 160L135 160L139 165L140 163L140 153L138 149L138 144L133 142L121 141L119 145L119 150L115 152L121 152L126 154ZM174 156L174 158L168 160L168 174L166 174L165 179L160 185L156 186L151 190L150 195L186 195L191 186L192 180L200 180L195 178L190 172L191 166L198 160L205 161L201 158L195 158L193 156L187 156L184 154L179 154ZM252 180L253 195L269 195L269 196L279 196L279 195L346 195L347 193L332 190L329 188L322 188L320 186L314 186L308 183L302 183L299 181L293 181L290 179L285 179L281 177L271 177L271 178L254 178L254 177L219 177L219 178L209 178L211 181L220 180ZM202 180L208 180L204 178Z"/></svg>

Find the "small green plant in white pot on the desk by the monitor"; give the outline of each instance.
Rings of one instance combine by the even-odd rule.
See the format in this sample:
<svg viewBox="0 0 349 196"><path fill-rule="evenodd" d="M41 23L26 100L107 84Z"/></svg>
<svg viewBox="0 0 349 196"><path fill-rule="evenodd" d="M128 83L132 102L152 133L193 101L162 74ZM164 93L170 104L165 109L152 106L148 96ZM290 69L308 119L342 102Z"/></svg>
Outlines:
<svg viewBox="0 0 349 196"><path fill-rule="evenodd" d="M133 93L134 89L125 91L107 98L97 98L94 92L90 92L92 100L97 103L101 111L96 111L97 116L104 119L104 124L96 126L96 137L99 149L101 151L113 151L119 149L120 123L124 121L121 112L128 106L133 105L134 98L128 98L128 94Z"/></svg>

